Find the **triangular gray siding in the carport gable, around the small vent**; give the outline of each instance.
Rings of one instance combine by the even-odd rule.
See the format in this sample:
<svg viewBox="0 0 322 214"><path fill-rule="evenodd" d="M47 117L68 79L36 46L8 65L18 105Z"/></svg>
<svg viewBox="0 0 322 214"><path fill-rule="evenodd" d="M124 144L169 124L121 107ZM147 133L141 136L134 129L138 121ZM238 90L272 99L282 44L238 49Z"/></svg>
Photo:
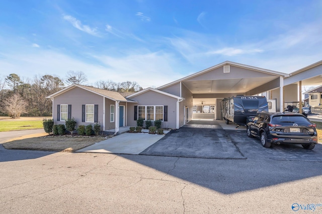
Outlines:
<svg viewBox="0 0 322 214"><path fill-rule="evenodd" d="M223 66L206 73L200 74L186 81L197 81L197 80L224 80L224 79L238 79L238 78L254 78L254 77L272 77L272 74L253 71L246 68L240 68L230 65L230 72L223 73Z"/></svg>

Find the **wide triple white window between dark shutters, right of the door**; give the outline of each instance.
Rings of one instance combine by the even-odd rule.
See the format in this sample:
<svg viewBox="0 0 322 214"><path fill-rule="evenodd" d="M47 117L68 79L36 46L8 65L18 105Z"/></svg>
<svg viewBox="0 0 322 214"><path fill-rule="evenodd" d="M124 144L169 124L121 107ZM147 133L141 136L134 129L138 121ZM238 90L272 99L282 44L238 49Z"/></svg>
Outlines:
<svg viewBox="0 0 322 214"><path fill-rule="evenodd" d="M138 106L137 114L144 120L164 120L164 106Z"/></svg>

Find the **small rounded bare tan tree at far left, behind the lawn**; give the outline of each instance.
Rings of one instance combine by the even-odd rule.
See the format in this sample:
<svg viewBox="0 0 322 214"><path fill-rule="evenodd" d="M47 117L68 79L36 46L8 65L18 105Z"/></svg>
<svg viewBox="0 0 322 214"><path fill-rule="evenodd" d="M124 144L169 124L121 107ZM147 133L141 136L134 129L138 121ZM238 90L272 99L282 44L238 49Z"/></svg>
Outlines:
<svg viewBox="0 0 322 214"><path fill-rule="evenodd" d="M22 113L26 113L26 101L19 95L14 94L4 100L4 109L9 116L19 118Z"/></svg>

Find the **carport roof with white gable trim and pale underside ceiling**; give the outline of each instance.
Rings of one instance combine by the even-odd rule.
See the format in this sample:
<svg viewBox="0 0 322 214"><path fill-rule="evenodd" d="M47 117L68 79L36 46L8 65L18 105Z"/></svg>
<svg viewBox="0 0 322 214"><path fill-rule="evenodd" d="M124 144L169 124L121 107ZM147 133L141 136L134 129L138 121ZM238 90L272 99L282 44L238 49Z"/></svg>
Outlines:
<svg viewBox="0 0 322 214"><path fill-rule="evenodd" d="M206 80L191 80L192 78L196 79L197 76L205 74L207 72L213 71L217 68L220 68L225 65L231 65L235 67L239 67L242 69L247 69L255 72L260 72L264 74L263 77L231 77L230 79L216 79L216 76L214 76L213 79L206 79ZM194 94L198 93L245 93L247 91L250 91L251 89L254 89L256 87L259 87L261 85L264 85L278 77L288 77L289 75L286 73L281 73L277 71L272 71L268 69L258 68L254 66L244 65L240 63L225 61L223 63L220 63L218 65L212 66L210 68L204 69L200 72L191 74L187 77L181 78L179 80L176 80L174 82L171 82L169 84L163 85L158 87L157 89L163 89L166 87L169 87L171 85L183 82L185 86ZM198 90L197 90L198 88ZM201 89L201 90L199 90Z"/></svg>

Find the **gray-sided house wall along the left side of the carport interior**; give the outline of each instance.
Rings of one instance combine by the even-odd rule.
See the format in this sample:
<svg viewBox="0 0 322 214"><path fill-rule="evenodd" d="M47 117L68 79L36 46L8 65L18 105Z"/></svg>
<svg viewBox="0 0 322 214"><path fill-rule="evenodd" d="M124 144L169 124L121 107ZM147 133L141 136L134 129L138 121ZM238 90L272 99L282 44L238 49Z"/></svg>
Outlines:
<svg viewBox="0 0 322 214"><path fill-rule="evenodd" d="M179 103L179 127L185 124L185 106L189 107L188 120L192 119L192 93L184 84L181 85L181 90L181 96L184 100Z"/></svg>

